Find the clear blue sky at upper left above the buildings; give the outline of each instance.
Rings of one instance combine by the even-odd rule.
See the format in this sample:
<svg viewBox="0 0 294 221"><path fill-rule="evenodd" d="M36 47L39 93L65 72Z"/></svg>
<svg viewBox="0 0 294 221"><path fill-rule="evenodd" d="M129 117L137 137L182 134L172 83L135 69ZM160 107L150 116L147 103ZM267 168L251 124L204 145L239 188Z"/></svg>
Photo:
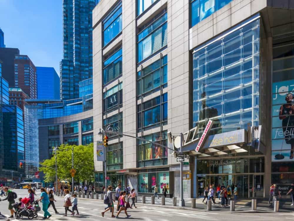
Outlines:
<svg viewBox="0 0 294 221"><path fill-rule="evenodd" d="M35 66L62 59L62 0L0 0L0 28L6 47L18 48Z"/></svg>

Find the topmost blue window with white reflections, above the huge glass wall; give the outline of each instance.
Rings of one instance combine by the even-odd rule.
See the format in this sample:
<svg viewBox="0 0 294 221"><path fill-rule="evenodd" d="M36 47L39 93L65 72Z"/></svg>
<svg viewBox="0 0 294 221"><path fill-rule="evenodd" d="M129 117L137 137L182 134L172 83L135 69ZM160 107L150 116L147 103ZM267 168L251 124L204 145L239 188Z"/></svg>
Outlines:
<svg viewBox="0 0 294 221"><path fill-rule="evenodd" d="M191 27L233 0L190 0Z"/></svg>

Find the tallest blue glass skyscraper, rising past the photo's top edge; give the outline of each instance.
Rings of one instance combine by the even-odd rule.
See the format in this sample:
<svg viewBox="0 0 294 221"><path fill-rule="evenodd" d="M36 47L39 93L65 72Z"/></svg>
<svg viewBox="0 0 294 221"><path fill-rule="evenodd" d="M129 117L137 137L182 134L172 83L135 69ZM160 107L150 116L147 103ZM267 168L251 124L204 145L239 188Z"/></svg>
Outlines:
<svg viewBox="0 0 294 221"><path fill-rule="evenodd" d="M78 82L91 78L92 10L99 1L63 0L63 60L60 62L60 98L78 98Z"/></svg>

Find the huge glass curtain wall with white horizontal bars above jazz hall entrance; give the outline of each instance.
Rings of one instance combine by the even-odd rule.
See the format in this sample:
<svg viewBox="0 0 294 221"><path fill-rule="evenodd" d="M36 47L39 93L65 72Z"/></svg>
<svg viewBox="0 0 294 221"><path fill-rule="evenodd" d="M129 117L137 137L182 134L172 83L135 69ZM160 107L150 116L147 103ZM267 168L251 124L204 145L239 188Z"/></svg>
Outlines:
<svg viewBox="0 0 294 221"><path fill-rule="evenodd" d="M243 23L245 24L245 23ZM229 30L232 31L232 30ZM259 19L193 52L193 126L210 134L259 123Z"/></svg>

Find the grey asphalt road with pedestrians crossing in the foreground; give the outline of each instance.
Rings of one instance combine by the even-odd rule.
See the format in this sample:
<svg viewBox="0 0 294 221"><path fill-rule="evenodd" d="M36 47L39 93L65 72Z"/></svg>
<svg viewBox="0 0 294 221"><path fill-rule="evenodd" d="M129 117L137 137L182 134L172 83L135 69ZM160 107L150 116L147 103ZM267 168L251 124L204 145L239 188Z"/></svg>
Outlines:
<svg viewBox="0 0 294 221"><path fill-rule="evenodd" d="M28 197L27 190L14 190L18 197ZM37 198L40 196L40 191L37 191ZM3 199L3 197L1 197ZM49 212L51 213L52 217L50 220L55 221L76 221L76 220L116 220L116 218L111 218L111 213L106 212L105 216L101 216L101 212L104 210L105 204L103 204L102 200L93 200L93 199L78 199L78 210L80 216L68 216L63 217L62 215L65 214L64 207L63 207L63 197L56 197L56 208L60 214L55 214L53 212L53 208L49 208ZM40 204L41 205L41 204ZM42 205L41 205L42 207ZM131 215L129 220L148 220L148 221L188 221L188 220L294 220L294 213L293 212L283 212L283 213L258 213L258 212L238 212L238 213L230 213L229 211L205 211L203 209L196 209L196 210L177 210L172 208L164 208L164 207L155 207L148 204L137 204L137 209L128 209L128 214ZM1 201L0 202L0 211L6 217L9 216L10 212L7 209L8 202ZM70 214L68 214L70 215ZM119 215L119 219L126 219L126 215L121 213ZM38 213L38 218L34 220L42 220L43 211L41 210ZM16 220L16 219L11 219ZM23 220L27 220L26 217Z"/></svg>

